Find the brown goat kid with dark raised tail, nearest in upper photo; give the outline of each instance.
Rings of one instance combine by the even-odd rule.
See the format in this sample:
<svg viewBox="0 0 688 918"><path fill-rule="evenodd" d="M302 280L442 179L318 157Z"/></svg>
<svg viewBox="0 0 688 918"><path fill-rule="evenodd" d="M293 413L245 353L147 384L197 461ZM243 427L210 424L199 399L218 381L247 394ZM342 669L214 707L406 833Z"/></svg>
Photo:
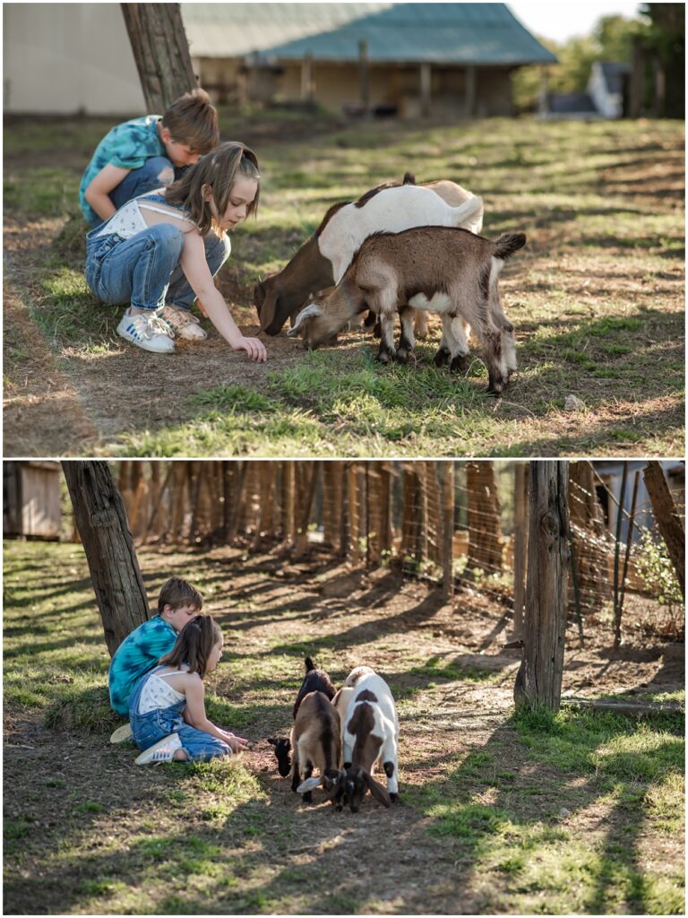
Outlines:
<svg viewBox="0 0 688 918"><path fill-rule="evenodd" d="M304 335L316 348L329 341L364 308L380 317L382 336L377 359L402 362L415 340L408 307L437 312L442 341L435 363L450 359L450 369L465 372L466 327L483 345L489 375L488 392L501 394L516 370L514 327L506 319L497 282L505 260L526 244L525 233L509 233L497 241L467 229L414 227L398 233L377 233L361 245L349 269L322 303L303 309L289 335ZM394 348L394 315L399 311L402 333Z"/></svg>

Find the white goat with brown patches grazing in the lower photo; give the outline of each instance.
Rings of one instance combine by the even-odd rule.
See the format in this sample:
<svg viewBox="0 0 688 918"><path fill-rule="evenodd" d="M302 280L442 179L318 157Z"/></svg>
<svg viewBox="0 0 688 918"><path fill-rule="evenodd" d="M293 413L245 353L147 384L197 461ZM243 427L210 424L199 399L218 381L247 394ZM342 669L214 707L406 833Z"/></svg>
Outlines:
<svg viewBox="0 0 688 918"><path fill-rule="evenodd" d="M334 704L341 719L343 769L326 799L338 807L348 803L351 812L358 812L370 790L375 800L390 806L399 797L399 721L389 686L370 666L357 666ZM387 776L386 790L372 778L378 763Z"/></svg>

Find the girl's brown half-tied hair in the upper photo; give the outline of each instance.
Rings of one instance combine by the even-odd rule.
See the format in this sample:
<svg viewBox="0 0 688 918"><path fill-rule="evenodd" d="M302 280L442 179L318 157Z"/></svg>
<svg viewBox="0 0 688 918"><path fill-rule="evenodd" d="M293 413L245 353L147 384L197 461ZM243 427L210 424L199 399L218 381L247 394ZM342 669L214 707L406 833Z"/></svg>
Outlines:
<svg viewBox="0 0 688 918"><path fill-rule="evenodd" d="M224 214L229 206L232 185L237 175L255 179L259 185L251 201L247 217L258 209L261 193L261 173L256 154L239 140L221 143L216 150L205 153L194 166L190 166L180 179L165 189L168 204L183 207L194 220L202 236L213 227L214 218L210 202L205 199L204 186L210 188L218 214Z"/></svg>

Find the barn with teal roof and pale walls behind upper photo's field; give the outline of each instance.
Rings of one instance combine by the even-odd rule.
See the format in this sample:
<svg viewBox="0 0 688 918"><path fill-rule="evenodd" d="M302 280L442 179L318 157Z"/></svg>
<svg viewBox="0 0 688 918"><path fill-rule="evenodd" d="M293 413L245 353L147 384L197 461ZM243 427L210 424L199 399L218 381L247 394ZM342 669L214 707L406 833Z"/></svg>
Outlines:
<svg viewBox="0 0 688 918"><path fill-rule="evenodd" d="M516 68L556 63L501 3L181 8L200 84L229 104L503 116L512 113ZM131 117L145 110L118 4L5 4L3 19L6 113Z"/></svg>

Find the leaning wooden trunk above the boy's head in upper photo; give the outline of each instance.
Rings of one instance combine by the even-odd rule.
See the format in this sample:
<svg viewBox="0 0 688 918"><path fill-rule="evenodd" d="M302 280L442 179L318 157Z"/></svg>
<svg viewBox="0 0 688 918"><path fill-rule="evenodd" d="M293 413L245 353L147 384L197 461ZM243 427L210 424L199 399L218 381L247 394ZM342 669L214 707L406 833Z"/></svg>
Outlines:
<svg viewBox="0 0 688 918"><path fill-rule="evenodd" d="M150 114L161 115L197 81L177 3L123 3L122 13Z"/></svg>

